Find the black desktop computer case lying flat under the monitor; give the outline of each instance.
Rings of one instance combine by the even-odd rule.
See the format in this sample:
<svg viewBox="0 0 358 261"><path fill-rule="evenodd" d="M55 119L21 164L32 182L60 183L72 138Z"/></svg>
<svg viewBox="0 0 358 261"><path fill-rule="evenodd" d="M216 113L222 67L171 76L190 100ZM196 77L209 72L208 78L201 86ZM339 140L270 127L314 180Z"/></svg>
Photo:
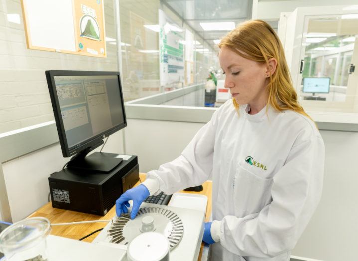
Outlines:
<svg viewBox="0 0 358 261"><path fill-rule="evenodd" d="M48 178L52 207L106 215L119 196L139 180L137 156L123 156L128 157L109 173L71 168L52 173Z"/></svg>

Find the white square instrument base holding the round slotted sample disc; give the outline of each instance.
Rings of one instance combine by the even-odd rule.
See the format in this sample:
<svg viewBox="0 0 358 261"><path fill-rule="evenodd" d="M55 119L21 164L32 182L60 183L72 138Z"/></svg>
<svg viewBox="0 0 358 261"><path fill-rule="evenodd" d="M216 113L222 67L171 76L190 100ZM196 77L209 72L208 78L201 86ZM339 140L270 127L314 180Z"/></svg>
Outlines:
<svg viewBox="0 0 358 261"><path fill-rule="evenodd" d="M130 213L131 207L128 209ZM170 244L170 261L196 261L204 233L205 211L142 203L137 216L114 217L94 239L93 243L127 247L142 233L163 234ZM128 261L124 257L121 261Z"/></svg>

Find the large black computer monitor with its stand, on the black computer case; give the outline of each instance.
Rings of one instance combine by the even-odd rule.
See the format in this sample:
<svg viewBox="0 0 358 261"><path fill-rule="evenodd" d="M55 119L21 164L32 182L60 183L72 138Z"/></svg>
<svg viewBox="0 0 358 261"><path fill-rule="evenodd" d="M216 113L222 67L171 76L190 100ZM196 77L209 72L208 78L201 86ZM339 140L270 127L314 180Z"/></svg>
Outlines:
<svg viewBox="0 0 358 261"><path fill-rule="evenodd" d="M46 71L52 108L69 168L109 172L121 158L93 153L103 139L127 126L119 72Z"/></svg>

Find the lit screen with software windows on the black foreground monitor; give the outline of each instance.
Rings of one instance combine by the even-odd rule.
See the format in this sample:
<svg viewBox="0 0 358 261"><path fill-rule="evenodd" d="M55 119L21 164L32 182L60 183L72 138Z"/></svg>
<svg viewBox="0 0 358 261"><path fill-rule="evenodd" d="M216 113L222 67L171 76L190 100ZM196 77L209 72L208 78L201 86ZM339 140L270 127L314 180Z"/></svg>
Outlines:
<svg viewBox="0 0 358 261"><path fill-rule="evenodd" d="M68 148L124 123L117 75L54 76Z"/></svg>

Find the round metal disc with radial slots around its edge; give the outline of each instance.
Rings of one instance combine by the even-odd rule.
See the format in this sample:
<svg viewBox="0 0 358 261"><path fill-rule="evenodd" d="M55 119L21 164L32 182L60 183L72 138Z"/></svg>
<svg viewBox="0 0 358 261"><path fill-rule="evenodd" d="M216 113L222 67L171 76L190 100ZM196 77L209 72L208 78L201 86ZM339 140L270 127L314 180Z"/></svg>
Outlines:
<svg viewBox="0 0 358 261"><path fill-rule="evenodd" d="M170 248L174 249L183 236L184 225L176 213L162 207L140 208L133 220L128 213L117 217L107 232L112 237L111 242L123 245L130 243L142 233L142 219L148 216L153 218L153 231L163 234L168 239Z"/></svg>

